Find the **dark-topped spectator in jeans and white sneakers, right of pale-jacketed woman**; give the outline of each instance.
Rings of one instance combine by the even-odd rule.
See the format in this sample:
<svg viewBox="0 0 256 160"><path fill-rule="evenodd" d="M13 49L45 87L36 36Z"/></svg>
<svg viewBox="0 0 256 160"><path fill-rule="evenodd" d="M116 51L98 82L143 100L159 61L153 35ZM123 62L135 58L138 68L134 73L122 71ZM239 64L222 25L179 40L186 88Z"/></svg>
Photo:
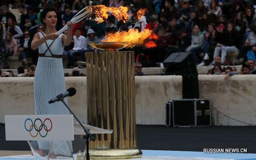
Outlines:
<svg viewBox="0 0 256 160"><path fill-rule="evenodd" d="M208 25L208 32L205 33L205 45L203 47L204 58L203 61L197 66L205 66L212 62L212 55L216 47L216 26L213 23Z"/></svg>

